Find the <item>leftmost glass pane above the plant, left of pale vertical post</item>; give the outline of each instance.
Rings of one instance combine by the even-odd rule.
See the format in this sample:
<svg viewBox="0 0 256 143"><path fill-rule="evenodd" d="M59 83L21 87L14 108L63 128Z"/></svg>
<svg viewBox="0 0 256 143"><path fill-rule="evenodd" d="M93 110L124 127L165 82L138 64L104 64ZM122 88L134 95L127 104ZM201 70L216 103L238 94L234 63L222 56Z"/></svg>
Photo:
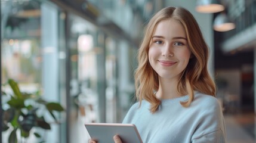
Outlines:
<svg viewBox="0 0 256 143"><path fill-rule="evenodd" d="M2 83L13 78L31 87L40 84L40 3L1 1L1 13Z"/></svg>

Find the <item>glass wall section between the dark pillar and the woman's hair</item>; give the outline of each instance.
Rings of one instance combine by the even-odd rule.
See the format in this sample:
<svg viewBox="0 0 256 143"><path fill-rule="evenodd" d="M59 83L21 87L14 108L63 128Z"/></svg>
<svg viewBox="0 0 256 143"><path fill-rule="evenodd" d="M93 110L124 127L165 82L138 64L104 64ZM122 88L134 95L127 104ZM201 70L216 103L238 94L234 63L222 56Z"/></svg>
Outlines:
<svg viewBox="0 0 256 143"><path fill-rule="evenodd" d="M69 141L86 142L87 131L81 126L85 122L122 122L130 105L127 92L133 86L129 60L134 56L129 53L136 49L77 15L70 13L67 20L71 64ZM123 109L122 102L127 102Z"/></svg>

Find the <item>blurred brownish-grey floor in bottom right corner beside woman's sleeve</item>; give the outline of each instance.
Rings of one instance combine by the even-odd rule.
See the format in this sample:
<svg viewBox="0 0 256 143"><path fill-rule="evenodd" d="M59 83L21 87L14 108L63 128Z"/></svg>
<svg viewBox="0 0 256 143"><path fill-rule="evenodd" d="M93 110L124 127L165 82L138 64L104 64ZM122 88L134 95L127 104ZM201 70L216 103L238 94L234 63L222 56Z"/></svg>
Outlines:
<svg viewBox="0 0 256 143"><path fill-rule="evenodd" d="M227 143L251 143L255 140L255 114L224 114Z"/></svg>

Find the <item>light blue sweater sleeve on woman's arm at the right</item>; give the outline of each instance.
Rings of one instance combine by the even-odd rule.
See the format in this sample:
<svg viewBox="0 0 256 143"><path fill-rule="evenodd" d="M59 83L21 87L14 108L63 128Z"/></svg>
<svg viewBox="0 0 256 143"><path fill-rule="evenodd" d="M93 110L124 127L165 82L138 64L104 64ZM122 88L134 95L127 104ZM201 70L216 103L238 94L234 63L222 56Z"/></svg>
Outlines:
<svg viewBox="0 0 256 143"><path fill-rule="evenodd" d="M197 129L193 138L217 139L225 136L223 110L217 98L196 92L191 105L197 110Z"/></svg>

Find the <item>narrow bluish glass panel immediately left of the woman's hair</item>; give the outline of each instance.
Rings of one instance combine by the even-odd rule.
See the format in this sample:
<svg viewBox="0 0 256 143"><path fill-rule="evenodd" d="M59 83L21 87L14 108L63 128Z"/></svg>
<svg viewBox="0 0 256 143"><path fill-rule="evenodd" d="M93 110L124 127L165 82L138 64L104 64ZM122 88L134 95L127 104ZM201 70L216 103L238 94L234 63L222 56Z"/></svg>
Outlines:
<svg viewBox="0 0 256 143"><path fill-rule="evenodd" d="M125 114L134 102L134 69L136 67L136 52L126 41L118 42L118 116L117 122L122 122Z"/></svg>

